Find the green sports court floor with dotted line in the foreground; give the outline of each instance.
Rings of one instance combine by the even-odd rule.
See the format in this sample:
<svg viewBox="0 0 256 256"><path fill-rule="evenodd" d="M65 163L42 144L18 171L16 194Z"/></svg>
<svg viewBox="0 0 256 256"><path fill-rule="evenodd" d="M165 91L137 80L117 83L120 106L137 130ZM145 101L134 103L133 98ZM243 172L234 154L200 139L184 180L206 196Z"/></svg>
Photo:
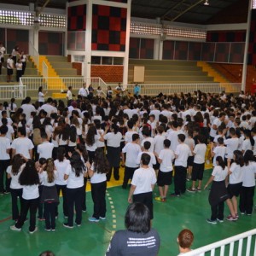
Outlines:
<svg viewBox="0 0 256 256"><path fill-rule="evenodd" d="M120 170L121 174L124 172ZM211 170L205 171L203 184L207 183ZM122 176L121 176L122 180ZM60 214L56 220L55 232L44 230L44 221L38 221L38 231L28 233L28 222L19 231L9 230L14 224L11 220L10 195L0 196L0 255L6 256L30 256L39 255L44 250L51 250L60 256L104 255L108 243L115 230L124 229L125 210L128 206L128 189L121 189L121 181L108 183L107 219L99 223L90 223L88 218L92 214L93 203L90 196L90 184L87 193L87 212L83 213L83 221L80 227L68 230L62 226L64 217ZM190 182L187 183L187 187ZM173 191L171 186L170 193ZM256 212L252 216L242 215L236 222L225 220L223 224L208 224L210 206L208 204L208 190L201 193L189 194L186 192L178 198L167 198L165 203L154 201L153 227L160 233L161 245L159 255L177 255L177 234L187 228L192 230L195 236L193 248L201 247L219 241L229 236L235 236L241 232L252 230L256 227ZM155 187L154 194L158 195ZM256 197L254 197L254 202ZM62 201L61 201L62 203ZM225 216L230 212L225 206ZM61 213L61 206L60 206Z"/></svg>

